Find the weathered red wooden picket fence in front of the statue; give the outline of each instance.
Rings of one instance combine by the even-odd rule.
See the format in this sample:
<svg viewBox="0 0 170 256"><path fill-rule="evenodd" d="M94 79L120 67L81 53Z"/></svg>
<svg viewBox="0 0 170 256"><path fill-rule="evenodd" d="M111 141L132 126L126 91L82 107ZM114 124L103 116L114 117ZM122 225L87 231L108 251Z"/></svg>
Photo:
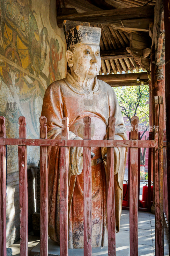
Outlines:
<svg viewBox="0 0 170 256"><path fill-rule="evenodd" d="M163 195L162 149L163 149L163 104L161 96L156 100L156 122L159 131L155 140L138 140L138 117L132 117L130 140L114 140L115 118L109 117L107 140L91 140L91 119L84 118L84 140L69 140L69 120L62 120L61 140L48 140L46 118L40 117L40 139L26 139L26 119L19 118L19 139L5 139L5 118L0 117L0 256L6 256L6 165L5 145L18 145L19 198L20 198L20 255L28 253L28 204L26 146L40 146L41 173L41 237L40 255L48 255L48 194L47 194L47 146L61 147L60 173L60 255L68 256L68 168L69 147L83 147L84 153L84 255L92 255L92 178L91 147L107 147L107 221L108 255L116 255L115 243L115 196L114 196L114 147L130 148L130 256L138 255L137 208L138 208L138 148L153 148L155 157L155 241L156 256L163 256ZM159 161L158 161L159 159ZM161 183L162 182L162 183ZM109 185L108 185L109 184Z"/></svg>

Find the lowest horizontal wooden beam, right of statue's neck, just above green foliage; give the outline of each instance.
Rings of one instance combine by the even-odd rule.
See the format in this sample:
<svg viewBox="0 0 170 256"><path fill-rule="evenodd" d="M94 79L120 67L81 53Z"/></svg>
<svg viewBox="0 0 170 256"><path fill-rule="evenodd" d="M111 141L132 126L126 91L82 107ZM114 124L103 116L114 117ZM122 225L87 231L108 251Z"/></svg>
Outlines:
<svg viewBox="0 0 170 256"><path fill-rule="evenodd" d="M99 75L97 79L106 82L107 84L115 83L115 82L125 82L125 81L133 81L137 80L140 77L140 80L148 80L147 72L141 73L128 73L128 74L113 74L113 75ZM139 84L138 84L139 85Z"/></svg>

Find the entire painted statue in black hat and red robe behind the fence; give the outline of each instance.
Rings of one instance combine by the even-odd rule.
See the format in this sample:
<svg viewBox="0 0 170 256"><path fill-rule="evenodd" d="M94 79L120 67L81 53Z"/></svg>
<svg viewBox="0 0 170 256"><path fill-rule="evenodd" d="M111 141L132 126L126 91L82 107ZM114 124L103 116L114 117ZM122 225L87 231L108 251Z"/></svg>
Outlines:
<svg viewBox="0 0 170 256"><path fill-rule="evenodd" d="M127 140L115 92L97 79L100 28L64 21L70 73L46 90L41 116L48 139L61 139L62 118L69 117L69 139L83 139L83 118L91 117L92 140L107 139L109 116L115 116L115 139ZM123 131L122 131L123 130ZM92 246L107 246L106 148L92 148ZM127 149L115 148L115 218L119 232ZM103 159L104 158L104 159ZM59 244L60 147L48 147L48 235ZM69 148L69 248L83 248L83 148Z"/></svg>

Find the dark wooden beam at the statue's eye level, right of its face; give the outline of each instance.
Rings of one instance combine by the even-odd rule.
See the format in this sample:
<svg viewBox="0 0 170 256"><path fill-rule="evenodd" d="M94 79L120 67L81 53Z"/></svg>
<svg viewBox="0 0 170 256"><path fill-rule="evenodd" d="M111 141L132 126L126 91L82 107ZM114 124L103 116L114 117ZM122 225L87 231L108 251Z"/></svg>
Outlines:
<svg viewBox="0 0 170 256"><path fill-rule="evenodd" d="M126 48L112 50L112 51L103 51L100 52L101 60L114 60L114 59L124 59L132 57Z"/></svg>

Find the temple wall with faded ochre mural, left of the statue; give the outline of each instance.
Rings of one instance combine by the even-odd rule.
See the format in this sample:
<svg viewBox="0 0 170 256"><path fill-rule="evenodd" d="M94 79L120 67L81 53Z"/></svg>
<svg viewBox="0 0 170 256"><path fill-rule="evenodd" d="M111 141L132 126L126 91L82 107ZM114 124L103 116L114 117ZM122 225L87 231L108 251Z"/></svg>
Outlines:
<svg viewBox="0 0 170 256"><path fill-rule="evenodd" d="M66 76L65 51L64 35L56 24L55 0L0 0L0 116L6 118L7 138L18 138L19 116L26 117L27 138L39 138L43 96L50 83ZM38 162L39 148L27 147L32 184L28 186L36 179L32 168ZM7 147L6 213L9 246L19 239L16 146Z"/></svg>

